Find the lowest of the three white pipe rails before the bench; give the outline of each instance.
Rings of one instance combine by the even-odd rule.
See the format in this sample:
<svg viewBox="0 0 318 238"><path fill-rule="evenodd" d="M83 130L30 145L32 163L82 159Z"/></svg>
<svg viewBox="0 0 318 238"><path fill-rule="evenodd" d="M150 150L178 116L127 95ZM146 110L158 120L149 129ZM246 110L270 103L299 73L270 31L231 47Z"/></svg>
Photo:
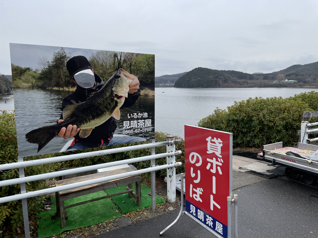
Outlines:
<svg viewBox="0 0 318 238"><path fill-rule="evenodd" d="M25 198L36 197L39 195L55 193L55 192L62 191L62 190L79 188L79 187L83 187L83 186L87 186L87 185L92 185L95 183L106 182L109 180L125 178L128 176L140 175L140 174L144 174L144 173L148 173L148 172L156 171L156 170L160 170L160 169L174 168L174 167L180 166L181 164L182 164L181 162L174 162L174 163L170 163L170 164L159 165L156 167L150 167L147 169L139 169L139 170L121 173L121 174L117 174L117 175L110 175L110 176L106 176L106 177L102 177L102 178L91 179L91 180L86 180L86 181L77 182L77 183L71 183L71 184L62 185L59 187L45 188L45 189L38 190L38 191L32 191L32 192L23 193L23 194L16 194L16 195L11 195L11 196L7 196L7 197L1 197L0 204L4 203L4 202L12 202L12 201L16 201L16 200L25 199Z"/></svg>

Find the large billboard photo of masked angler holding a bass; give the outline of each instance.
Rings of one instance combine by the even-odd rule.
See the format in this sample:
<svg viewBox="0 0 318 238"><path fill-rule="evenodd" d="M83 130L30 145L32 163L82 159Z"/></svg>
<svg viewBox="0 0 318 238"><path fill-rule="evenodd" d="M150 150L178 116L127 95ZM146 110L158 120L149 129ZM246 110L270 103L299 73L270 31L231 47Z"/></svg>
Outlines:
<svg viewBox="0 0 318 238"><path fill-rule="evenodd" d="M154 139L155 98L140 94L154 55L10 43L10 57L20 157Z"/></svg>

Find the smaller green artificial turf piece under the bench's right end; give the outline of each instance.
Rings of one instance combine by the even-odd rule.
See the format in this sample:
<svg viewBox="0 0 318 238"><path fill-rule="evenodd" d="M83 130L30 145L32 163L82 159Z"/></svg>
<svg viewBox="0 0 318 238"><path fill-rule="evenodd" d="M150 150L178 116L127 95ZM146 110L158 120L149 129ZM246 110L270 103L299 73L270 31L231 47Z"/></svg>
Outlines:
<svg viewBox="0 0 318 238"><path fill-rule="evenodd" d="M106 190L106 192L108 194L114 194L114 193L118 193L121 191L126 190L126 186L127 185L122 185L120 187L117 188L109 188ZM133 189L134 191L136 191L135 189L135 183L133 183ZM117 195L112 197L112 200L115 202L115 204L117 205L117 207L119 207L119 209L121 209L122 213L128 213L131 211L135 211L141 208L147 208L149 206L151 206L151 196L148 196L147 194L151 192L151 189L148 188L148 186L144 183L141 184L141 206L139 207L136 204L136 200L135 198L130 198L128 196L128 193L125 194L121 194L121 195ZM156 204L165 202L165 200L156 195Z"/></svg>

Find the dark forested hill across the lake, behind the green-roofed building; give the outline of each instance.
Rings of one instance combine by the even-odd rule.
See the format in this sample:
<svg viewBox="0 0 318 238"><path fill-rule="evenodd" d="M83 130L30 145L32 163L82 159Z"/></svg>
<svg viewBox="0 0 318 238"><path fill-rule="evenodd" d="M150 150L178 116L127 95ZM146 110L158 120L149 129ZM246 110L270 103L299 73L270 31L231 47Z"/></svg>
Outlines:
<svg viewBox="0 0 318 238"><path fill-rule="evenodd" d="M318 62L295 64L273 73L243 73L234 70L195 68L180 77L176 88L240 88L240 87L294 87L273 81L295 80L297 86L318 85ZM314 85L313 85L314 84Z"/></svg>

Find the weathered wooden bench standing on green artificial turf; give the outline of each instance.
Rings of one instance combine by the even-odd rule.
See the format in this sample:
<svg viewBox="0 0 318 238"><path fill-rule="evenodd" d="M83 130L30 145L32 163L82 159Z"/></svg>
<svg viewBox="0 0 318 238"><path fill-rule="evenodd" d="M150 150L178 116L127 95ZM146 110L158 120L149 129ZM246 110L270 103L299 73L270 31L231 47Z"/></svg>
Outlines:
<svg viewBox="0 0 318 238"><path fill-rule="evenodd" d="M110 171L101 172L101 173L92 174L92 175L85 175L85 176L79 176L79 177L75 177L75 178L63 179L60 181L56 181L55 186L59 187L59 186L66 185L66 184L82 182L82 181L87 181L87 180L96 179L96 178L102 178L102 177L106 177L106 176L110 176L110 175L116 175L116 174L121 174L121 173L125 173L125 172L130 172L130 171L134 171L134 169L131 169L130 167L128 167L128 168L115 169L115 170L110 170ZM136 192L134 192L134 190L133 190L133 184L132 184L133 182L136 182ZM106 196L103 196L100 198L94 198L94 199L87 200L84 202L78 202L75 204L64 206L64 201L67 199L95 193L95 192L98 192L101 190L106 190L108 188L115 188L115 187L125 185L125 184L128 184L128 186L126 187L126 190L123 192L119 192L119 193L115 193L115 194L111 194L111 195L106 195ZM67 190L56 192L55 193L56 213L53 213L52 219L55 219L56 217L60 217L61 218L61 227L65 227L66 226L65 220L68 219L68 216L67 216L67 213L65 210L66 208L79 206L79 205L82 205L82 204L85 204L88 202L94 202L94 201L98 201L101 199L113 197L113 196L124 194L124 193L128 193L129 197L135 198L137 205L140 206L141 205L140 186L141 186L140 175L133 175L133 176L129 176L129 177L121 178L121 179L114 179L114 180L110 180L110 181L106 181L106 182L101 182L101 183L96 183L96 184L92 184L92 185L88 185L88 186L83 186L83 187L79 187L79 188L67 189Z"/></svg>

